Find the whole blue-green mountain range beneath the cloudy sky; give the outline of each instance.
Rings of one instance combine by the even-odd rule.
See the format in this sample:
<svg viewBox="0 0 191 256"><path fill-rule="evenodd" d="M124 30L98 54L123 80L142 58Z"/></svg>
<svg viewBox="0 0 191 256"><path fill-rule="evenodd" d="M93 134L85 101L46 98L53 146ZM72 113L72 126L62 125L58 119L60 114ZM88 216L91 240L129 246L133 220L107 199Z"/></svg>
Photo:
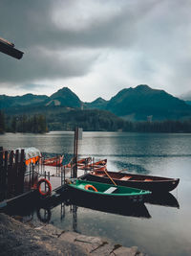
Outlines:
<svg viewBox="0 0 191 256"><path fill-rule="evenodd" d="M50 97L33 94L15 97L0 95L0 109L9 114L47 111L53 114L72 109L99 109L130 121L146 121L148 117L154 121L191 118L191 105L164 90L153 89L145 84L124 88L109 101L99 97L92 103L82 102L68 87L59 89Z"/></svg>

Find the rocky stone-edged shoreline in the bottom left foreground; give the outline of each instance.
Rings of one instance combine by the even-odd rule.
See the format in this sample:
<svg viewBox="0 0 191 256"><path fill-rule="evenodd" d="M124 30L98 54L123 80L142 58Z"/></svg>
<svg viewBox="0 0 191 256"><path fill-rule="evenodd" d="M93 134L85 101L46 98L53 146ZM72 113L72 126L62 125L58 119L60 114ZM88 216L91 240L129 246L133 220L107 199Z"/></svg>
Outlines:
<svg viewBox="0 0 191 256"><path fill-rule="evenodd" d="M17 218L19 219L19 218ZM52 224L23 223L0 213L0 255L2 256L145 256L137 246L124 247L99 237L65 232Z"/></svg>

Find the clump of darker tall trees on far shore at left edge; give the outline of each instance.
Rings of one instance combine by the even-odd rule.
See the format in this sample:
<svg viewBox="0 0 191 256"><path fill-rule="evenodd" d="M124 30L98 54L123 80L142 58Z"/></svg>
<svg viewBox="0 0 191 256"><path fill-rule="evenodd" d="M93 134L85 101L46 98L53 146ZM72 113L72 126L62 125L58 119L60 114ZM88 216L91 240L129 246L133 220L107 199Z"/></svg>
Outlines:
<svg viewBox="0 0 191 256"><path fill-rule="evenodd" d="M0 133L4 132L32 132L44 133L48 131L44 115L5 116L0 110Z"/></svg>

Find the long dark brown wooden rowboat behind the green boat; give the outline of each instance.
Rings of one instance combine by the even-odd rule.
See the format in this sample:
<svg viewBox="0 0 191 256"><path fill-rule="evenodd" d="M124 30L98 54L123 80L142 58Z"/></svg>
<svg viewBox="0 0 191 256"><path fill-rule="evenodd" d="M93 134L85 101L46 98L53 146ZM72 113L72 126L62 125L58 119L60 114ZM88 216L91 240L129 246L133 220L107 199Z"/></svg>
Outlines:
<svg viewBox="0 0 191 256"><path fill-rule="evenodd" d="M133 187L159 193L174 190L180 182L179 178L152 175L133 175L108 171L107 174L110 175L119 186ZM108 175L103 171L92 171L89 174L82 175L80 179L112 184L112 180Z"/></svg>

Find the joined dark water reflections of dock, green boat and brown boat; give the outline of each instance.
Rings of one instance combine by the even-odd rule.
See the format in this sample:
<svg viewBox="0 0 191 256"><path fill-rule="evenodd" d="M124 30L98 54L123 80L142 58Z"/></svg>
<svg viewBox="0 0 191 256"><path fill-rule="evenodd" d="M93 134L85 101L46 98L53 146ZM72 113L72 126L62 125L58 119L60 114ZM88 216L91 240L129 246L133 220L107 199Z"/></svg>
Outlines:
<svg viewBox="0 0 191 256"><path fill-rule="evenodd" d="M96 202L95 200L79 197L73 198L70 197L69 192L65 192L56 198L32 200L26 207L7 207L6 212L11 216L25 217L28 221L32 221L33 216L36 215L38 221L45 223L51 221L52 209L54 207L57 207L57 210L59 209L61 221L65 218L66 208L69 208L69 212L73 215L73 230L76 231L78 207L104 213L150 219L151 215L144 203L180 208L179 201L170 193L147 195L144 202L127 201L126 204L121 204L120 201L116 200L115 203L111 204L107 200Z"/></svg>

